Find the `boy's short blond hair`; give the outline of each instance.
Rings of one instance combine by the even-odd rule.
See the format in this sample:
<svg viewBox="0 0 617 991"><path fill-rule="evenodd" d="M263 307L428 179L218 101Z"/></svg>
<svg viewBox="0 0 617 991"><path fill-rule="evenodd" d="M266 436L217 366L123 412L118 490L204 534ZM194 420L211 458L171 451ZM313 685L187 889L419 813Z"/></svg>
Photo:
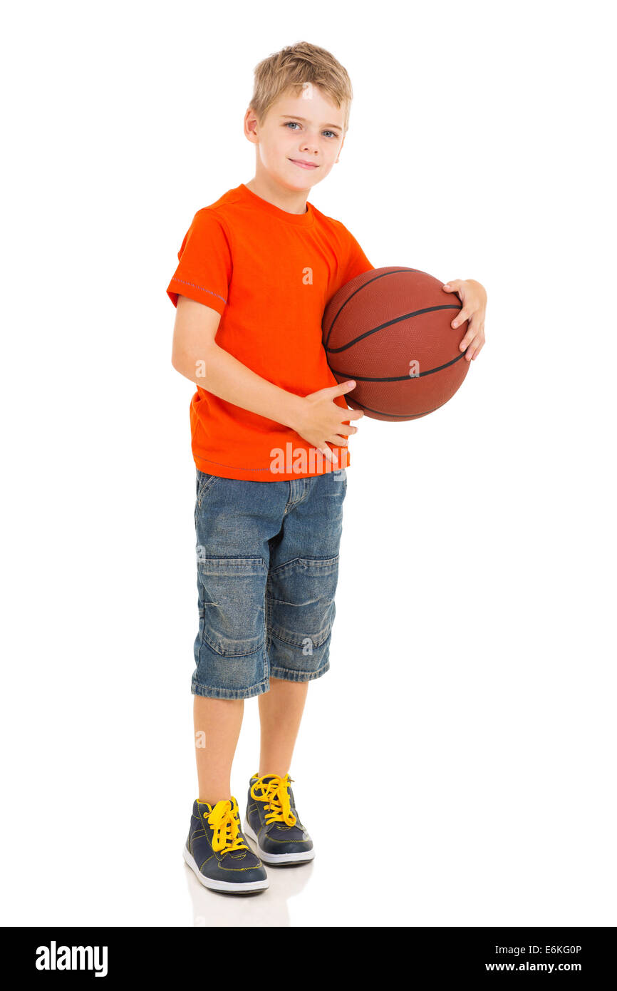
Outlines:
<svg viewBox="0 0 617 991"><path fill-rule="evenodd" d="M259 124L283 93L299 95L307 83L320 86L339 108L345 107L344 133L350 124L354 93L347 69L326 49L297 42L263 58L255 67L255 83L249 107Z"/></svg>

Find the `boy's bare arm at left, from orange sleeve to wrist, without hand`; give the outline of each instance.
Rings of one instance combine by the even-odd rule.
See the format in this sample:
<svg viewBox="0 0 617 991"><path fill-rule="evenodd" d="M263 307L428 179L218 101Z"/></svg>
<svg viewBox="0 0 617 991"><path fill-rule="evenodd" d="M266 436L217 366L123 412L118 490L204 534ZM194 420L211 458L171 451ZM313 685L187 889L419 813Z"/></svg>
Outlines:
<svg viewBox="0 0 617 991"><path fill-rule="evenodd" d="M190 382L227 402L297 430L303 396L261 379L215 341L221 314L188 296L178 296L171 364Z"/></svg>

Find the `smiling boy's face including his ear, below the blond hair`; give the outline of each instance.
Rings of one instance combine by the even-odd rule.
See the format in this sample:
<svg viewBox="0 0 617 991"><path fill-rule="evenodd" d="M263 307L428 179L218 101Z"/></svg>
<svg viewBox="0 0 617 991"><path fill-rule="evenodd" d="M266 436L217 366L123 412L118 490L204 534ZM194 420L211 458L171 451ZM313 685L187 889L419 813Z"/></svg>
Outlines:
<svg viewBox="0 0 617 991"><path fill-rule="evenodd" d="M345 106L338 109L312 83L307 83L298 96L280 96L260 126L253 111L248 110L245 134L257 145L257 171L265 169L288 189L317 185L338 161L345 141L344 119Z"/></svg>

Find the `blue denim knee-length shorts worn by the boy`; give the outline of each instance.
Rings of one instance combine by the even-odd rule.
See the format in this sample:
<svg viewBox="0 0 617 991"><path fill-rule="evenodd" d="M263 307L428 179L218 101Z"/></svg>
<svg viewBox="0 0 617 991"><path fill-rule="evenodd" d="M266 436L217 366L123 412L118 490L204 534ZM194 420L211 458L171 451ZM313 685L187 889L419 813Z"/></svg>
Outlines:
<svg viewBox="0 0 617 991"><path fill-rule="evenodd" d="M247 482L197 469L193 695L250 699L330 667L347 469Z"/></svg>

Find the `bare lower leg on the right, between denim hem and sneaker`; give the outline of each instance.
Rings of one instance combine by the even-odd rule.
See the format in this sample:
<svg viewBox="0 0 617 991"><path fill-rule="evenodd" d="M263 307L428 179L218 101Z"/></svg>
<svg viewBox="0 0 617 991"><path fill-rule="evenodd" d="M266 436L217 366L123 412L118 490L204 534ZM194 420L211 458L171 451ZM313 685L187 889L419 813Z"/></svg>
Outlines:
<svg viewBox="0 0 617 991"><path fill-rule="evenodd" d="M278 774L284 778L288 773L307 691L307 681L270 677L269 692L259 696L259 777Z"/></svg>

